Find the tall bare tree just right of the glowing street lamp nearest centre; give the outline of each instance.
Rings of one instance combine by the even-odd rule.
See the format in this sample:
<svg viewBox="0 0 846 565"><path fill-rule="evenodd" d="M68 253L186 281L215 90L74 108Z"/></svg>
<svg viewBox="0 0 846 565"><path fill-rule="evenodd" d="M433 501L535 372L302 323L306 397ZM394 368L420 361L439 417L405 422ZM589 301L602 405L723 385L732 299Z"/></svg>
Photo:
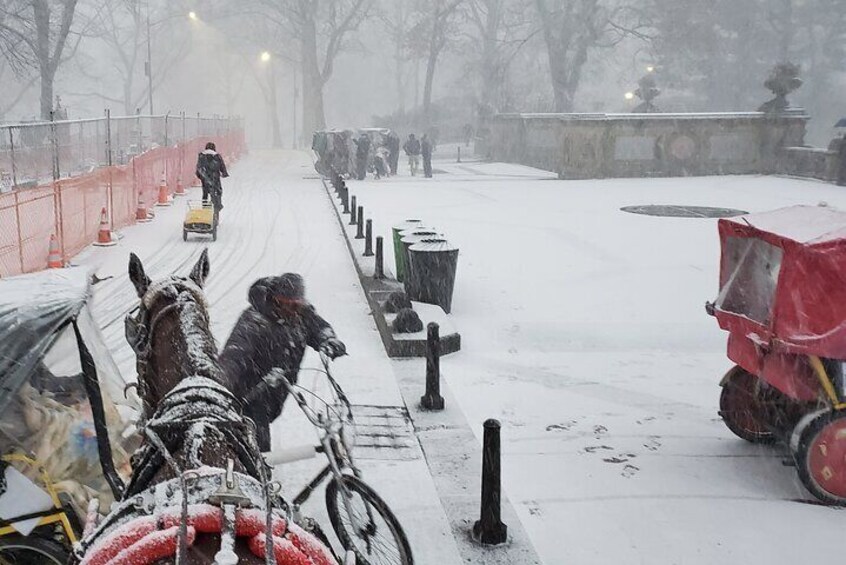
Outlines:
<svg viewBox="0 0 846 565"><path fill-rule="evenodd" d="M296 39L303 81L303 135L326 127L323 88L371 0L259 0L283 35Z"/></svg>

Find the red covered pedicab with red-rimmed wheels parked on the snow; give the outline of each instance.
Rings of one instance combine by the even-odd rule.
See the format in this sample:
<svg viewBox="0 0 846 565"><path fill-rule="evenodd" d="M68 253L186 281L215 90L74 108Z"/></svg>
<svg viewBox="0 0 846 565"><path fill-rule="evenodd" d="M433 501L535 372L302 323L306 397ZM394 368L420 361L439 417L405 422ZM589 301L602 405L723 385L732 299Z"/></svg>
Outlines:
<svg viewBox="0 0 846 565"><path fill-rule="evenodd" d="M708 304L736 366L720 414L739 437L788 442L799 477L846 505L846 213L793 206L719 222Z"/></svg>

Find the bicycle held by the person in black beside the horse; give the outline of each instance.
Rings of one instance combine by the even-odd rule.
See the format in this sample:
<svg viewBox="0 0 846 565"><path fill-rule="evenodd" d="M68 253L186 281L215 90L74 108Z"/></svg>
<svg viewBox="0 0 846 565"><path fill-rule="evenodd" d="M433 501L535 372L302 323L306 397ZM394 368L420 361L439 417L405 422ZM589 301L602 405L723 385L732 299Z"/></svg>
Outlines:
<svg viewBox="0 0 846 565"><path fill-rule="evenodd" d="M300 446L270 452L266 462L270 466L292 463L316 457L323 453L327 465L311 480L290 505L295 523L300 523L300 507L314 490L332 475L326 485L326 510L332 528L341 545L355 555L356 565L412 565L414 559L408 538L388 507L388 504L361 479L361 471L352 457L353 441L350 428L355 425L352 406L343 389L329 371L329 359L321 353L323 373L331 385L332 401L327 402L313 391L292 384L281 370L274 369L265 380L271 386L284 386L303 411L305 417L318 430L320 445ZM322 407L316 410L309 405L306 394Z"/></svg>

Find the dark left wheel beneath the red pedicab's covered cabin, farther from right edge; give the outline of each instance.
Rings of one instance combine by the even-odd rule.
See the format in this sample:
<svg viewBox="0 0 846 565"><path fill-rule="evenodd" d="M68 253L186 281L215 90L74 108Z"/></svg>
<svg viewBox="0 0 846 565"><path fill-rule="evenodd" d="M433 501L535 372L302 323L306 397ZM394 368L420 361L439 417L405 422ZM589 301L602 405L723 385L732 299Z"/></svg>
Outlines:
<svg viewBox="0 0 846 565"><path fill-rule="evenodd" d="M767 406L760 401L760 380L741 367L728 372L720 394L720 416L737 437L752 443L772 443Z"/></svg>

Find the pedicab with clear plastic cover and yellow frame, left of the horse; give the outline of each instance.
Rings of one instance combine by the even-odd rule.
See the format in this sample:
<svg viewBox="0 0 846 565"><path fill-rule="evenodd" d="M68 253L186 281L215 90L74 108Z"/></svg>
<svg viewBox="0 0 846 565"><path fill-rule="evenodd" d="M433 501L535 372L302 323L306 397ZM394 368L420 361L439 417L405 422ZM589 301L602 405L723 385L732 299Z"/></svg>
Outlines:
<svg viewBox="0 0 846 565"><path fill-rule="evenodd" d="M0 281L0 563L67 562L134 448L84 269ZM101 464L101 461L104 464ZM97 510L91 508L92 511Z"/></svg>

